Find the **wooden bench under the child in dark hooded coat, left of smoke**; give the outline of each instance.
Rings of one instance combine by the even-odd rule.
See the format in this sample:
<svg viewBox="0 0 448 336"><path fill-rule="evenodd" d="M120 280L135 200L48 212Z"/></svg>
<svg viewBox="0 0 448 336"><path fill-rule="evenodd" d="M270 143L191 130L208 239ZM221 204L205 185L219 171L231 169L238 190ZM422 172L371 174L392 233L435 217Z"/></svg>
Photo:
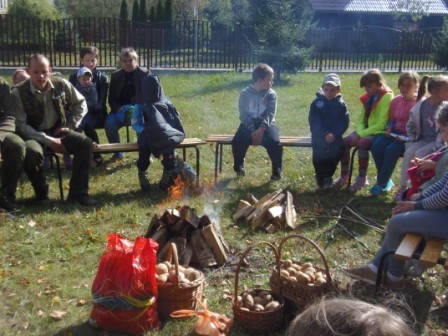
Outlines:
<svg viewBox="0 0 448 336"><path fill-rule="evenodd" d="M199 173L200 173L200 162L201 156L199 151L200 145L205 145L204 140L198 138L186 138L179 144L176 148L182 149L182 158L184 161L187 159L186 149L194 148L196 150L196 183L199 184ZM94 149L94 153L117 153L117 152L137 152L138 144L137 142L127 142L127 143L114 143L114 144L98 144Z"/></svg>

